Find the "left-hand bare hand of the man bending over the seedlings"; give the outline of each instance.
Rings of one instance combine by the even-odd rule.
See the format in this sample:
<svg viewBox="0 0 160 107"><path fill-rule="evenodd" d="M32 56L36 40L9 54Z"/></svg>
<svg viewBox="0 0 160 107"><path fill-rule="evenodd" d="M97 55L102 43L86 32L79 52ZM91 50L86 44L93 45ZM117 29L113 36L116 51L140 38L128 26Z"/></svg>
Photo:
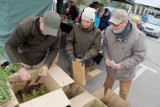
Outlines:
<svg viewBox="0 0 160 107"><path fill-rule="evenodd" d="M25 68L20 68L18 71L20 78L22 80L28 81L31 79L31 75L30 73L27 72L27 70Z"/></svg>

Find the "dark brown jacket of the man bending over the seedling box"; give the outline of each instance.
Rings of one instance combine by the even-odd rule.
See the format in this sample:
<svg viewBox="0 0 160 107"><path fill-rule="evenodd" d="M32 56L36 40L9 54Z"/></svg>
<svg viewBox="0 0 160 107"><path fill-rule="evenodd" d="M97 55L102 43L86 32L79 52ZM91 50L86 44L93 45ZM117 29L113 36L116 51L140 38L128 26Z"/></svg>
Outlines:
<svg viewBox="0 0 160 107"><path fill-rule="evenodd" d="M11 63L25 63L33 66L44 59L44 65L51 66L60 46L61 32L58 36L43 35L38 17L22 20L14 29L5 44Z"/></svg>

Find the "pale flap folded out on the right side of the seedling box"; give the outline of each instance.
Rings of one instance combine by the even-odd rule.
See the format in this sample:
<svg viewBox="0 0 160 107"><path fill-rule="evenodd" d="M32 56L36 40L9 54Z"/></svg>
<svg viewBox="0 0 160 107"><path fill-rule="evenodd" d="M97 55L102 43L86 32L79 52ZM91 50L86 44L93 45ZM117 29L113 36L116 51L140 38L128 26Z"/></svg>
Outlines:
<svg viewBox="0 0 160 107"><path fill-rule="evenodd" d="M74 82L68 74L66 74L60 67L52 66L49 69L49 74L55 79L55 81L59 84L60 87L67 86Z"/></svg>

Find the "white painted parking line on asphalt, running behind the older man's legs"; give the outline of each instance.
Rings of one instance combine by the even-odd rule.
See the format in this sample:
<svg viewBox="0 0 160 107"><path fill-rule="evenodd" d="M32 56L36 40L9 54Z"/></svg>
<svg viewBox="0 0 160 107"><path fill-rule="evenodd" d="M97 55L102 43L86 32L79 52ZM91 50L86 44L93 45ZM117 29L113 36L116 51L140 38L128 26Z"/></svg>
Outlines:
<svg viewBox="0 0 160 107"><path fill-rule="evenodd" d="M145 65L143 65L143 64L139 64L139 65L141 65L142 68L139 69L139 70L136 72L136 76L133 78L133 81L135 81L141 74L143 74L143 72L144 72L146 69L149 69L149 70L153 71L154 73L157 73L157 71L154 70L154 69L152 69L152 68L149 68L149 67L147 67L147 66L145 66ZM116 88L116 89L114 90L114 92L115 92L116 94L119 94L119 87Z"/></svg>

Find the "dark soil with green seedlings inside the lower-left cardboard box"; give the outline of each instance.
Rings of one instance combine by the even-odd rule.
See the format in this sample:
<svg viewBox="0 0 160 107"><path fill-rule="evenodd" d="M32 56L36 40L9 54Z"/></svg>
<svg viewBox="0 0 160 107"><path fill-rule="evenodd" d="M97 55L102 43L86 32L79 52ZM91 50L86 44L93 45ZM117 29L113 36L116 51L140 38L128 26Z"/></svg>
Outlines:
<svg viewBox="0 0 160 107"><path fill-rule="evenodd" d="M19 103L23 103L36 97L42 96L48 92L49 90L47 89L47 87L39 83L37 85L24 87L22 90L17 91L15 95Z"/></svg>

